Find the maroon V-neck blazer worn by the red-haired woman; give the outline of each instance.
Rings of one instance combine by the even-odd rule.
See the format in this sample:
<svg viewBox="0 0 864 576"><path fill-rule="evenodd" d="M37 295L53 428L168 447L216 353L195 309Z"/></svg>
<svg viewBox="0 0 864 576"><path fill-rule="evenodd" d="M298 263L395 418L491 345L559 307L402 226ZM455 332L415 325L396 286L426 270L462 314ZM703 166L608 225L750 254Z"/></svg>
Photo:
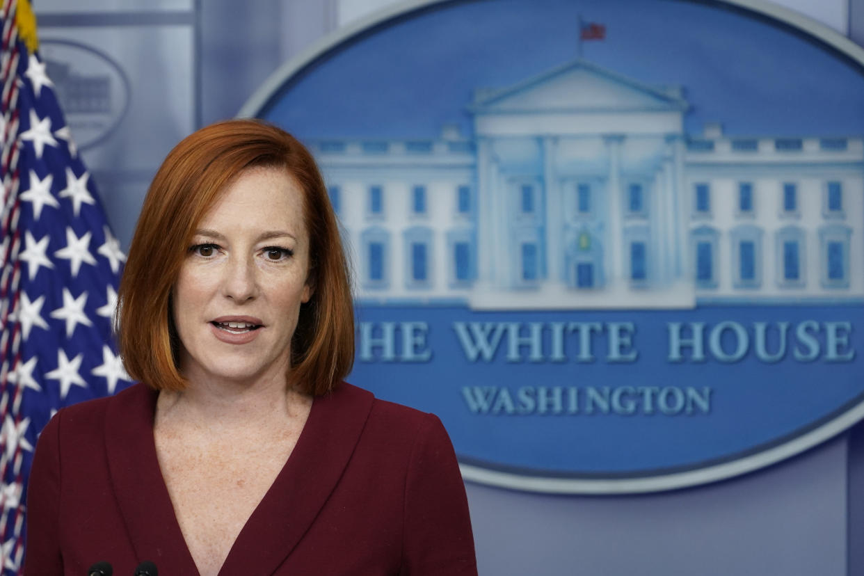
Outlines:
<svg viewBox="0 0 864 576"><path fill-rule="evenodd" d="M28 576L197 574L156 460L156 392L63 408L28 488ZM254 462L249 473L255 473ZM219 506L219 502L213 502ZM476 574L465 486L441 421L341 383L315 398L288 461L220 574Z"/></svg>

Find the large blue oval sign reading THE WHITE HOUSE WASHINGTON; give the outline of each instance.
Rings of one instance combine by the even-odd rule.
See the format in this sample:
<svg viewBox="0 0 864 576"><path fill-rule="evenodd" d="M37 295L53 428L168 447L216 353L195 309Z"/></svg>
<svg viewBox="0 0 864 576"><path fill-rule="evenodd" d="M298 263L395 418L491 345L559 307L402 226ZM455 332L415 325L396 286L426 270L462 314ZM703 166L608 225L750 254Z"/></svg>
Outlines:
<svg viewBox="0 0 864 576"><path fill-rule="evenodd" d="M662 491L864 416L862 63L756 2L412 2L241 115L321 163L354 383L469 480Z"/></svg>

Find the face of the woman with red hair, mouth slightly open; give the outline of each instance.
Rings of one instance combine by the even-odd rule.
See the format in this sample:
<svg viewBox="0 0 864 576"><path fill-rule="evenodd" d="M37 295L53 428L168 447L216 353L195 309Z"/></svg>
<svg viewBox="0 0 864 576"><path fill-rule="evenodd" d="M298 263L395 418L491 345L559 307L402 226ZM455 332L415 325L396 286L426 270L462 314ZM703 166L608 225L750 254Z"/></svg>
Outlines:
<svg viewBox="0 0 864 576"><path fill-rule="evenodd" d="M309 300L302 190L283 168L249 168L207 212L173 290L180 370L214 379L282 379Z"/></svg>

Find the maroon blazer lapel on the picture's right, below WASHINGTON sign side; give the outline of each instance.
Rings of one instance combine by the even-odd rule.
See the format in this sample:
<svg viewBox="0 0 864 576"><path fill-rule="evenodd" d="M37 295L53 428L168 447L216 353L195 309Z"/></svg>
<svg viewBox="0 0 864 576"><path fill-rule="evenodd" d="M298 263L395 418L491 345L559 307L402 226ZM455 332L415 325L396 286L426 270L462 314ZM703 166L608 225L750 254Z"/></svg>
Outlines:
<svg viewBox="0 0 864 576"><path fill-rule="evenodd" d="M347 383L315 398L294 451L240 531L219 574L271 574L283 564L339 483L372 400L372 393ZM254 473L254 463L250 471Z"/></svg>

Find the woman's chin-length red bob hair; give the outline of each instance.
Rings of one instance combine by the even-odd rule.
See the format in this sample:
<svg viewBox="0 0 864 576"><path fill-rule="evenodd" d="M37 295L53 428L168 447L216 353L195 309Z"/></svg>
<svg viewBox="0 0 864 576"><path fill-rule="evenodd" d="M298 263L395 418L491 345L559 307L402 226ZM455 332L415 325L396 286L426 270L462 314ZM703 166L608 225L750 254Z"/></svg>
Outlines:
<svg viewBox="0 0 864 576"><path fill-rule="evenodd" d="M351 371L354 314L339 226L321 173L294 136L258 120L202 128L168 153L144 199L118 291L115 329L126 371L155 389L187 387L171 291L201 218L247 168L284 168L303 192L308 284L291 339L289 385L320 396Z"/></svg>

